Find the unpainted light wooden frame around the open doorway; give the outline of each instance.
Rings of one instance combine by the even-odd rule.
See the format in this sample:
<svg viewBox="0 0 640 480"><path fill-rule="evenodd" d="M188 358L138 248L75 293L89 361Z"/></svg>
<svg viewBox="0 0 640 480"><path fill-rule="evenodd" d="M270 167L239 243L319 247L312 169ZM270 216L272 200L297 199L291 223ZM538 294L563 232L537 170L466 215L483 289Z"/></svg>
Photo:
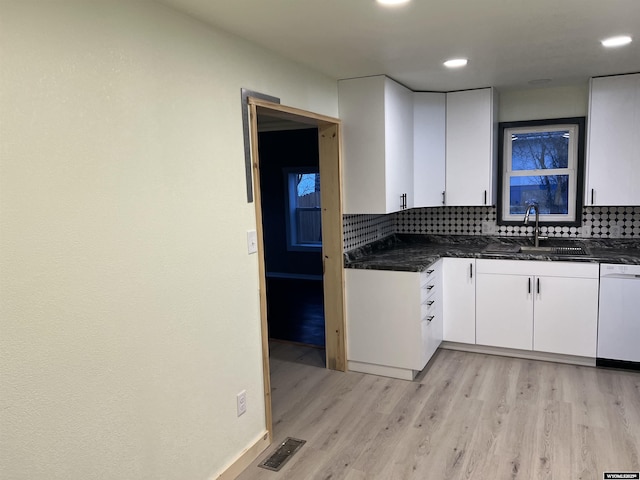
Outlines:
<svg viewBox="0 0 640 480"><path fill-rule="evenodd" d="M342 232L342 158L341 125L337 118L287 107L278 103L248 98L251 160L258 237L258 271L260 281L260 323L262 330L262 367L266 427L269 441L273 438L271 415L271 376L269 372L269 334L267 328L266 268L260 195L260 155L258 152L258 115L270 116L318 128L320 189L322 215L322 270L324 281L326 365L331 370L347 367L344 305L344 260Z"/></svg>

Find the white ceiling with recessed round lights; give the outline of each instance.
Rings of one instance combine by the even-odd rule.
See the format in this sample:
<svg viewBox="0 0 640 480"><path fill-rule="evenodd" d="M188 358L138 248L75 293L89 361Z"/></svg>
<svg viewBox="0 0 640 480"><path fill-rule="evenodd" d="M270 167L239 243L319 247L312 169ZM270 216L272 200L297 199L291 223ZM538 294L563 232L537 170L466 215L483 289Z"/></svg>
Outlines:
<svg viewBox="0 0 640 480"><path fill-rule="evenodd" d="M336 79L386 74L412 90L505 90L640 71L640 0L160 1ZM634 42L600 44L622 34ZM445 68L452 57L469 64Z"/></svg>

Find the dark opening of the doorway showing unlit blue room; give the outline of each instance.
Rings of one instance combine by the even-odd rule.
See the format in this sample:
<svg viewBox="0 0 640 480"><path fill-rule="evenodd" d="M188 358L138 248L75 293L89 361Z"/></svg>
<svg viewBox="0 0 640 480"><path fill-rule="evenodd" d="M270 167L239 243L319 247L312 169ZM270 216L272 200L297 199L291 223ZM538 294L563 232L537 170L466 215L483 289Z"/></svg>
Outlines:
<svg viewBox="0 0 640 480"><path fill-rule="evenodd" d="M324 350L318 129L258 115L258 141L269 339Z"/></svg>

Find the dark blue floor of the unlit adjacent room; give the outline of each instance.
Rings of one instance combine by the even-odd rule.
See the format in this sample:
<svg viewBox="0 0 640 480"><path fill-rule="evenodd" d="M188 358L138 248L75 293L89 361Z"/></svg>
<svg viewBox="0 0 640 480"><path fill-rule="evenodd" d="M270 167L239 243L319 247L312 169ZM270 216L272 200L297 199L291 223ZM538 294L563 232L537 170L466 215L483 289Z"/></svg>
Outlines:
<svg viewBox="0 0 640 480"><path fill-rule="evenodd" d="M324 347L322 280L267 278L269 338Z"/></svg>

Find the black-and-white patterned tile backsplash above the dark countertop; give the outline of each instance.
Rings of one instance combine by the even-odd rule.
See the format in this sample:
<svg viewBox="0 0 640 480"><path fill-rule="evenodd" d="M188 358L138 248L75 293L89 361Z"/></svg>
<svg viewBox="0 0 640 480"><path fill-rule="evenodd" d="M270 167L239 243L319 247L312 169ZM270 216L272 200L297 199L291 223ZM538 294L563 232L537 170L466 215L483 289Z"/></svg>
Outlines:
<svg viewBox="0 0 640 480"><path fill-rule="evenodd" d="M394 233L432 235L533 235L531 225L496 225L495 207L412 208L389 215L344 215L344 250ZM547 237L640 238L640 206L584 207L580 227L540 227Z"/></svg>

